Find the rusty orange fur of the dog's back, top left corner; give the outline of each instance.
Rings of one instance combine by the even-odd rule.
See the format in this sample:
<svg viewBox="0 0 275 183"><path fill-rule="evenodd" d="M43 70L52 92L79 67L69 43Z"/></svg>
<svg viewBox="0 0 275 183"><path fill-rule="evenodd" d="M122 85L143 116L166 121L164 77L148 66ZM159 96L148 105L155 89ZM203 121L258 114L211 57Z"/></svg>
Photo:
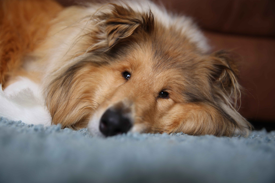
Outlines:
<svg viewBox="0 0 275 183"><path fill-rule="evenodd" d="M23 57L44 39L50 20L62 10L51 0L0 1L0 83L20 69Z"/></svg>

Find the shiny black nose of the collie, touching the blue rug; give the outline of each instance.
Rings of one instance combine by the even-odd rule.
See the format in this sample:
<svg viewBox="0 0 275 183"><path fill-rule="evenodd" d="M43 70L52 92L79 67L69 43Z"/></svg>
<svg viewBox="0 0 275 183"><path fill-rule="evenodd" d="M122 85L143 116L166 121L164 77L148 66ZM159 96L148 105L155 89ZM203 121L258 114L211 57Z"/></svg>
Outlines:
<svg viewBox="0 0 275 183"><path fill-rule="evenodd" d="M108 109L100 119L99 130L105 136L123 134L130 130L132 124L120 110Z"/></svg>

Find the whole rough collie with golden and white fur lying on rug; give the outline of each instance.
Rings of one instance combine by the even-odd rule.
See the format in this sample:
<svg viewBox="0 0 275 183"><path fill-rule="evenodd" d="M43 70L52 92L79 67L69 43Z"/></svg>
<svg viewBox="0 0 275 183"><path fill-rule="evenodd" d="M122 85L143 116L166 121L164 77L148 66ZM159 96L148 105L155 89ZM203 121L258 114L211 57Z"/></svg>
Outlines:
<svg viewBox="0 0 275 183"><path fill-rule="evenodd" d="M237 68L185 16L150 1L0 3L0 116L130 132L246 135Z"/></svg>

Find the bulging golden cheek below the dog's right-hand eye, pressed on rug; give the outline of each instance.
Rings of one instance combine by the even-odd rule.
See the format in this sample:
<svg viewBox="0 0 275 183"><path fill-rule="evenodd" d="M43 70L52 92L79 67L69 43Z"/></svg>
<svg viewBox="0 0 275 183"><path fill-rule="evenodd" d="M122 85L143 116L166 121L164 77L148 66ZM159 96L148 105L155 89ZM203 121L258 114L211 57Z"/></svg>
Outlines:
<svg viewBox="0 0 275 183"><path fill-rule="evenodd" d="M168 133L231 136L237 124L217 106L206 103L177 104L163 118Z"/></svg>

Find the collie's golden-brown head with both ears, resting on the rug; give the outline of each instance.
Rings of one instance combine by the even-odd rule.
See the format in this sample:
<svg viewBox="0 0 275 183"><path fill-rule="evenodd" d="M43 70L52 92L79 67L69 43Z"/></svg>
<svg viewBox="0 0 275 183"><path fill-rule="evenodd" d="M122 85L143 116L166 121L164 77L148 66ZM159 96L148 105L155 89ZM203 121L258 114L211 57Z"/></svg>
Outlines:
<svg viewBox="0 0 275 183"><path fill-rule="evenodd" d="M85 51L48 87L54 123L88 123L93 134L104 136L249 132L236 110L237 69L226 52L207 54L203 36L186 17L108 6L88 16L90 27L74 43L86 44Z"/></svg>

